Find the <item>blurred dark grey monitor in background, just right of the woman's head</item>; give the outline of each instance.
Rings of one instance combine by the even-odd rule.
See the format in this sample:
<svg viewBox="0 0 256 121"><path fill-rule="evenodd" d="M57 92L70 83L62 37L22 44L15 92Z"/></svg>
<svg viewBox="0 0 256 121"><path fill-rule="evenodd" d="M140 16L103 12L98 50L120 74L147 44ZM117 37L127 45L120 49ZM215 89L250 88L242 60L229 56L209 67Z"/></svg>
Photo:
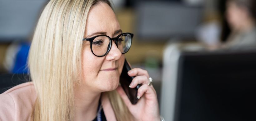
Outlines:
<svg viewBox="0 0 256 121"><path fill-rule="evenodd" d="M136 5L136 35L140 41L193 38L203 7L183 2L143 1Z"/></svg>

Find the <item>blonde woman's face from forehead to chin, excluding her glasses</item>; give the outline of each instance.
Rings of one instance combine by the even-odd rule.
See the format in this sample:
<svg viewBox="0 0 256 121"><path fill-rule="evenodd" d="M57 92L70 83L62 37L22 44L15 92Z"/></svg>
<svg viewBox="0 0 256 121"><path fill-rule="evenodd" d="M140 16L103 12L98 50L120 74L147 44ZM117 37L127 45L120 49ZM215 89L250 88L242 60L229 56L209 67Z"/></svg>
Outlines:
<svg viewBox="0 0 256 121"><path fill-rule="evenodd" d="M106 3L98 3L89 11L84 38L107 35L111 38L121 34L114 11ZM86 89L105 92L116 89L122 72L125 56L112 43L110 52L103 57L93 55L89 41L84 41L82 50L82 84Z"/></svg>

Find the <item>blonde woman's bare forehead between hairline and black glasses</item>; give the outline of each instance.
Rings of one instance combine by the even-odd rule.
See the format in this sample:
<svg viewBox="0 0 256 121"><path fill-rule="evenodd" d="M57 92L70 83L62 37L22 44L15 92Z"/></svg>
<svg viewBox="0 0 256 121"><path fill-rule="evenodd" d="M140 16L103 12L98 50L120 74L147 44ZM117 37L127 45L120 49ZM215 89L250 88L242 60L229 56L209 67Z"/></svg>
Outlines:
<svg viewBox="0 0 256 121"><path fill-rule="evenodd" d="M116 15L107 3L98 3L89 11L85 37L96 32L106 32L112 35L116 30L120 29L120 25L116 19Z"/></svg>

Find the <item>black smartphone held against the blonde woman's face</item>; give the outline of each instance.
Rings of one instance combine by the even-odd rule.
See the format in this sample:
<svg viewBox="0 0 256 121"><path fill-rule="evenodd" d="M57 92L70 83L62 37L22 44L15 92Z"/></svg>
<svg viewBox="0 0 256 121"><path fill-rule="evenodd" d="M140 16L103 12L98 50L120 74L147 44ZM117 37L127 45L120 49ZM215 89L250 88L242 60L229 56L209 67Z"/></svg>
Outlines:
<svg viewBox="0 0 256 121"><path fill-rule="evenodd" d="M138 84L135 88L129 87L132 79L135 78L135 77L130 77L128 75L127 72L130 69L131 69L131 67L125 59L124 67L123 67L123 70L122 70L122 73L120 76L120 84L123 87L128 98L130 99L131 103L136 104L139 101L139 99L137 98L137 94L138 94L138 89L141 86L141 84Z"/></svg>

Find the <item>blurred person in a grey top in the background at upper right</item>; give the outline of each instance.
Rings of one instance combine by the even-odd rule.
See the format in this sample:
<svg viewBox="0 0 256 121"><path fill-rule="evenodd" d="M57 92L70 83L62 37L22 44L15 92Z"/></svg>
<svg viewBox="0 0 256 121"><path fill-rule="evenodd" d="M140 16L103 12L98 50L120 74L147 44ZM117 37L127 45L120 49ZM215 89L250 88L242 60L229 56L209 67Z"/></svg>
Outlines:
<svg viewBox="0 0 256 121"><path fill-rule="evenodd" d="M226 2L226 17L231 34L222 48L232 50L256 48L255 3L255 0L228 0Z"/></svg>

